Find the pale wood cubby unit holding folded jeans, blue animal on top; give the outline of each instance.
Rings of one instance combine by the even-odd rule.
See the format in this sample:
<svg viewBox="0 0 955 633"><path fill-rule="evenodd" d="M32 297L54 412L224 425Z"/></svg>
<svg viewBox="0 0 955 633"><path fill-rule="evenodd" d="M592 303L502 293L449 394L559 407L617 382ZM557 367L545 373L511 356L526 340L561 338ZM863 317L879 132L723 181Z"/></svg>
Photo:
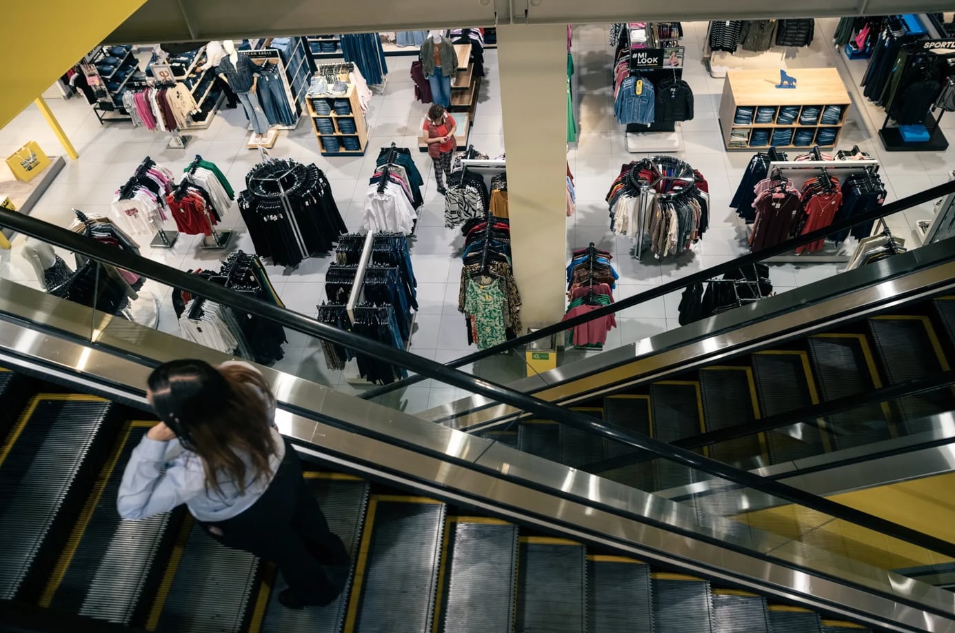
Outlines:
<svg viewBox="0 0 955 633"><path fill-rule="evenodd" d="M727 72L719 104L719 122L727 150L752 152L754 149L765 149L771 145L780 149L809 149L817 145L829 149L836 147L851 103L838 70L800 68L788 73L796 77L796 88L776 88L779 83L779 72L776 70ZM835 122L822 121L821 115L827 106L840 109ZM738 108L752 110L752 117L747 121L738 120ZM780 119L782 108L798 109L794 122ZM772 121L756 123L757 109L773 109ZM812 116L810 122L801 120L804 114L815 116ZM763 132L758 132L761 130ZM734 131L744 131L750 139L749 143L743 147L731 146L730 137ZM783 136L788 135L789 142L773 145L775 132ZM805 142L796 145L796 136L800 132L800 140ZM766 136L765 142L762 142L762 138L757 139L763 135Z"/></svg>

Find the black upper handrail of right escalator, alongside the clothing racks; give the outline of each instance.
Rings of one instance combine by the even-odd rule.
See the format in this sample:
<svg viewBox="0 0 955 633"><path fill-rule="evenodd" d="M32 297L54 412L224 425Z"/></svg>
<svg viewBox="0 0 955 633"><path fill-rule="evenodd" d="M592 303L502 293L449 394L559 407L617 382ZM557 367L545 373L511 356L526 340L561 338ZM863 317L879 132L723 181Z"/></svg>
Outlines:
<svg viewBox="0 0 955 633"><path fill-rule="evenodd" d="M775 246L770 246L769 248L763 248L756 252L743 255L742 257L737 257L736 259L724 262L723 264L716 264L709 268L704 268L699 272L692 273L686 277L681 277L680 279L673 280L672 282L668 282L663 285L657 285L656 287L635 294L631 297L626 297L625 299L616 301L612 304L609 304L608 306L601 306L591 310L590 312L587 312L586 314L567 319L566 321L562 321L560 323L551 324L550 326L541 327L540 329L536 329L531 333L522 334L517 338L513 338L499 345L485 349L478 349L467 356L461 356L456 360L445 363L445 367L456 369L474 363L482 358L487 358L488 356L493 356L501 352L509 352L515 348L520 348L522 345L531 343L532 341L537 341L545 336L559 334L565 330L580 326L584 323L587 323L588 321L592 321L593 319L600 319L607 315L614 314L619 310L638 306L652 299L656 299L657 297L662 297L671 292L681 290L689 285L706 282L707 280L719 277L720 275L730 272L731 270L735 270L736 268L741 268L743 266L752 264L759 264L767 258L775 257L776 255L781 255L783 253L792 251L796 249L797 246L817 242L818 240L822 240L830 235L833 235L834 233L848 230L859 224L879 220L886 216L899 213L905 209L918 206L924 202L942 198L952 193L955 193L955 180L949 180L944 184L934 186L930 189L925 189L924 191L921 191L917 194L912 194L911 196L906 196L901 200L889 202L888 204L868 213L853 216L852 218L848 218L841 222L833 222L829 226L817 229L812 233L800 235L791 240L787 240L786 242L775 244ZM391 385L383 385L381 387L367 390L358 397L371 400L393 390L414 385L414 383L424 379L425 378L420 375L409 376L408 378L394 382Z"/></svg>

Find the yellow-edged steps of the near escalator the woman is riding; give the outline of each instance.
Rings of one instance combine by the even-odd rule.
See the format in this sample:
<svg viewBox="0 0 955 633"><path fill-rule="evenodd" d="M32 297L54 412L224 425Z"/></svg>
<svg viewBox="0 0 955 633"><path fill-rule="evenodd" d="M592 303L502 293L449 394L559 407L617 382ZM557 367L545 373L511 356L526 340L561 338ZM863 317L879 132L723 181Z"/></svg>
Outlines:
<svg viewBox="0 0 955 633"><path fill-rule="evenodd" d="M150 631L865 630L309 462L308 487L352 564L337 601L289 610L269 564L206 537L182 508L118 517L124 465L153 424L140 411L6 370L0 410L5 609Z"/></svg>

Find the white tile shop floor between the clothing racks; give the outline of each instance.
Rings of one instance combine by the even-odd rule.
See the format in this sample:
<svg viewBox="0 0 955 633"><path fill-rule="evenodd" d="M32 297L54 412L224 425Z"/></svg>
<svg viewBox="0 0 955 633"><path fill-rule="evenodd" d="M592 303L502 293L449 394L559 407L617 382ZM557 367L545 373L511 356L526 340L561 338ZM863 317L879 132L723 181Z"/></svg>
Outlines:
<svg viewBox="0 0 955 633"><path fill-rule="evenodd" d="M808 49L793 50L787 59L790 69L835 65L847 79L853 92L856 81L864 71L865 62L844 62L838 51L829 45L836 20L817 20L817 41ZM568 160L577 182L578 211L567 220L568 248L597 243L614 253L620 273L618 298L632 296L652 285L679 278L713 264L725 262L746 252L741 242L742 223L729 207L729 201L739 183L750 152L727 153L723 149L717 122L717 110L723 80L707 74L701 59L702 39L706 23L684 23L686 69L684 77L694 92L695 116L681 124L681 148L675 154L690 161L708 179L711 190L711 230L690 253L663 262L637 262L630 254L632 244L626 238L614 236L608 230L604 201L606 189L622 163L635 155L627 154L623 126L613 119L612 91L609 68L613 51L607 45L607 25L584 25L574 30L575 110L580 135L578 142L568 148ZM485 53L485 77L477 106L477 117L470 142L479 150L496 155L502 153L503 133L500 116L497 51ZM329 177L335 200L351 229L361 225L364 179L371 174L376 148L391 142L416 147L417 127L425 107L414 102L409 77L412 57L389 57L388 87L384 95L371 100L368 121L371 126L370 151L365 157L325 158L318 153L318 144L307 120L297 129L280 134L272 156L290 157L315 162ZM882 161L881 174L889 189L889 200L943 182L946 170L955 165L955 148L944 153L887 153L881 151L876 136L881 125L881 111L868 105L861 95L853 93L854 107L843 133L841 145L853 144L872 153ZM166 137L127 123L100 126L90 106L80 98L63 101L51 99L50 105L79 151L78 160L68 161L39 205L34 217L59 224L72 219L71 208L77 207L92 214L109 212L108 203L113 191L145 156L150 156L174 171L181 169L196 154L215 161L236 189L242 189L244 176L258 162L258 153L245 147L247 137L244 113L222 110L207 130L194 133L193 142L185 150L166 149ZM943 119L946 130L955 129L955 117ZM59 153L58 143L43 117L31 106L9 125L0 129L0 156L11 152L27 140L36 140L49 153ZM447 362L467 353L468 346L462 319L456 310L460 261L458 253L462 238L456 230L443 225L443 199L435 191L431 162L427 155L414 153L425 179L421 218L412 240L414 272L419 281L420 313L412 340L414 353ZM6 170L6 165L0 165ZM0 172L2 180L10 175ZM889 219L890 225L902 232L910 231L914 222L927 217L927 208L913 210ZM252 251L252 243L245 233L238 209L224 219L224 225L234 228L237 239L234 247ZM36 285L32 268L20 256L22 238L14 242L11 251L0 252L0 275L25 284ZM143 254L159 262L182 269L215 264L223 255L217 251L200 250L198 238L180 236L173 249L143 249ZM68 259L72 261L72 258ZM324 277L328 258L308 260L297 271L269 267L269 275L285 300L286 305L309 316L316 313L316 304L324 298ZM777 290L805 285L835 274L831 264L775 265L772 279ZM162 301L159 328L170 333L179 332L174 318L169 290L157 288L154 292ZM623 310L619 327L611 333L608 348L624 342L650 336L678 327L676 306L678 296L668 296ZM296 373L342 389L354 389L338 373L330 371L321 350L306 337L292 334L286 358L278 369ZM485 359L472 368L478 374L497 380L509 380L523 370L522 364L512 367L498 359ZM455 390L420 383L402 396L402 406L408 411L446 402ZM399 406L396 401L395 406Z"/></svg>

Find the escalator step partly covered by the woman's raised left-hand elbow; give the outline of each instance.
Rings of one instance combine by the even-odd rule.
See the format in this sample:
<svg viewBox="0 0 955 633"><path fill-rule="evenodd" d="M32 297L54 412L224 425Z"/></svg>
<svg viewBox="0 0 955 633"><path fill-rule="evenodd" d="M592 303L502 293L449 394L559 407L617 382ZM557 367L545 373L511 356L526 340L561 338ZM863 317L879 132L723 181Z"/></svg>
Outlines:
<svg viewBox="0 0 955 633"><path fill-rule="evenodd" d="M180 515L123 520L117 494L130 454L154 424L133 422L122 433L56 563L41 606L122 624L144 616L144 591L159 580L160 552L175 538L175 529L167 528Z"/></svg>

